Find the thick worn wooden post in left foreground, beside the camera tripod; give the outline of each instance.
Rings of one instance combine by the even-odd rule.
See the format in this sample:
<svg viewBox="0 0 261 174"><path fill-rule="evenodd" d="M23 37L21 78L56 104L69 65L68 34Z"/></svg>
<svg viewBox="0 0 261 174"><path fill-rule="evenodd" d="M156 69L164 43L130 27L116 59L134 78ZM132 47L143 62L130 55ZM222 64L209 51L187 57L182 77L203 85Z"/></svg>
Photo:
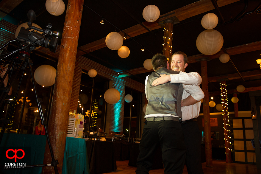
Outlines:
<svg viewBox="0 0 261 174"><path fill-rule="evenodd" d="M74 66L79 39L84 0L68 0L62 32L51 114L48 124L54 158L58 159L58 172L62 173L63 156L68 125ZM51 154L46 143L43 164L50 164ZM53 167L43 167L42 173L54 173Z"/></svg>

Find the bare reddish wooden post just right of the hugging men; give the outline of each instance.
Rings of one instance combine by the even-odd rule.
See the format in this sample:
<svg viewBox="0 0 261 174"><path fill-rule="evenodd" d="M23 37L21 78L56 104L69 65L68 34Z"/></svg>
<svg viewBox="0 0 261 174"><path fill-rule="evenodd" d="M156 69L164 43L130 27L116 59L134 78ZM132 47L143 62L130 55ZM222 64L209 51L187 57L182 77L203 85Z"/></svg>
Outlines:
<svg viewBox="0 0 261 174"><path fill-rule="evenodd" d="M202 91L205 94L203 98L203 113L204 113L204 132L205 132L205 150L206 150L206 167L212 167L212 145L211 145L211 128L210 128L210 111L209 111L209 95L208 95L208 81L207 81L207 60L202 59L201 77L202 77Z"/></svg>

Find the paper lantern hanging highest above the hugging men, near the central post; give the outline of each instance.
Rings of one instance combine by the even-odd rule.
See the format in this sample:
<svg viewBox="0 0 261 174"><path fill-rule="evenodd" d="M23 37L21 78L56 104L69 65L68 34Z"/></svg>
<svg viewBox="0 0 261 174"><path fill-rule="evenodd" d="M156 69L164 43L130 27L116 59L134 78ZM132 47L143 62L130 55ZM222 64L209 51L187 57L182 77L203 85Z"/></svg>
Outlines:
<svg viewBox="0 0 261 174"><path fill-rule="evenodd" d="M160 10L156 5L148 5L143 9L142 16L146 21L154 22L160 17Z"/></svg>

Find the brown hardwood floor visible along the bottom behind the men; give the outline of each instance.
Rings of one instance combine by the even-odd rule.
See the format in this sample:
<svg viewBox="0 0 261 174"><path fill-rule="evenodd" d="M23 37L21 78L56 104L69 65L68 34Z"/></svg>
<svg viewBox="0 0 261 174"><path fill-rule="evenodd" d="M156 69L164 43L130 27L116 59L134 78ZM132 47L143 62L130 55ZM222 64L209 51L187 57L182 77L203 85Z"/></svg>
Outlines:
<svg viewBox="0 0 261 174"><path fill-rule="evenodd" d="M129 161L117 161L117 170L107 174L134 174L136 167L128 166ZM202 163L204 174L261 174L261 170L252 164L227 164L226 161L213 160L213 167L206 167ZM163 169L150 170L150 174L163 174ZM183 174L187 174L187 168L184 167Z"/></svg>

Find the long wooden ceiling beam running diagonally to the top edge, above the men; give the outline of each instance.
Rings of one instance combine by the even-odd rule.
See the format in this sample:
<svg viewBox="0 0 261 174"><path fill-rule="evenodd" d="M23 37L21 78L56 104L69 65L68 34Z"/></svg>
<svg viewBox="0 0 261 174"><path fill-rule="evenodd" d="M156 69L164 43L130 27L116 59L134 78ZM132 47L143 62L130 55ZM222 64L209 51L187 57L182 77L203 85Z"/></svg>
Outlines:
<svg viewBox="0 0 261 174"><path fill-rule="evenodd" d="M237 2L237 1L239 1L239 0L218 0L217 4L218 4L218 7L222 7L222 6ZM143 22L142 24L145 25L149 30L154 30L154 29L161 28L160 25L158 24L158 22L164 21L167 18L176 16L179 19L179 21L183 21L187 18L193 17L195 15L199 15L201 13L205 13L205 12L213 10L213 9L215 9L215 8L212 5L210 0L201 0L201 1L197 1L192 4L189 4L185 7L181 7L179 9L173 10L169 13L160 15L159 19L155 22L151 22L151 23ZM133 27L123 30L123 32L127 33L130 37L135 37L137 35L141 35L143 33L148 32L148 30L143 28L140 24L137 24ZM119 32L119 33L123 36L124 35L123 32ZM77 56L84 55L85 52L92 52L92 51L95 51L95 50L98 50L98 49L101 49L104 47L106 47L105 38L102 38L102 39L94 41L92 43L88 43L86 45L80 46L79 49L77 50Z"/></svg>

